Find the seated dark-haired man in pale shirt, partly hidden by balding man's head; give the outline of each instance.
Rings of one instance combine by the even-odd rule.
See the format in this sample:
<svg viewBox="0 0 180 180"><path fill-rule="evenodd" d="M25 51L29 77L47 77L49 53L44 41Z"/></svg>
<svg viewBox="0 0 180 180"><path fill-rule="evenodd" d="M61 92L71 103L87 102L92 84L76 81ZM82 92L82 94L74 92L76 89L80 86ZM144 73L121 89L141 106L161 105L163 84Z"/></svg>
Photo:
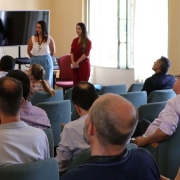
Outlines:
<svg viewBox="0 0 180 180"><path fill-rule="evenodd" d="M84 123L89 108L97 98L97 92L89 82L79 82L72 90L72 102L80 118L66 124L61 133L61 142L56 149L61 174L67 170L76 154L90 148L83 138Z"/></svg>

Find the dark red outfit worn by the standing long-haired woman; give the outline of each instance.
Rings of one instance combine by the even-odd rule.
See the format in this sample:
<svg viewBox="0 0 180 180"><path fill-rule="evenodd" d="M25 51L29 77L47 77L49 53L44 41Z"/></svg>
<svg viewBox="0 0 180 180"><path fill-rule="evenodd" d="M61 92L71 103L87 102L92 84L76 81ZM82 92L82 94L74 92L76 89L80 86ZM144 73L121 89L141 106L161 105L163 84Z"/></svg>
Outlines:
<svg viewBox="0 0 180 180"><path fill-rule="evenodd" d="M88 56L91 50L91 41L88 39L86 50L82 52L82 48L81 45L78 44L78 40L79 37L75 38L71 44L71 53L74 54L74 61L78 61L83 54L87 57L79 63L79 68L73 69L74 86L80 81L88 81L90 76L90 62Z"/></svg>

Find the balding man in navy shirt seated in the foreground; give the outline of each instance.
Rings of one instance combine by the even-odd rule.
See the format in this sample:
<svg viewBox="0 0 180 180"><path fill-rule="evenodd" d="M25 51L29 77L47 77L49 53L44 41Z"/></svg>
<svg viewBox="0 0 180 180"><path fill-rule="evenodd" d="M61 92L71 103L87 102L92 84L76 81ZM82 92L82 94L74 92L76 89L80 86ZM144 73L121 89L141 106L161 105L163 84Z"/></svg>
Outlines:
<svg viewBox="0 0 180 180"><path fill-rule="evenodd" d="M115 94L100 96L85 121L84 137L90 143L91 157L61 179L160 179L154 159L145 149L126 148L137 119L137 111L128 100Z"/></svg>

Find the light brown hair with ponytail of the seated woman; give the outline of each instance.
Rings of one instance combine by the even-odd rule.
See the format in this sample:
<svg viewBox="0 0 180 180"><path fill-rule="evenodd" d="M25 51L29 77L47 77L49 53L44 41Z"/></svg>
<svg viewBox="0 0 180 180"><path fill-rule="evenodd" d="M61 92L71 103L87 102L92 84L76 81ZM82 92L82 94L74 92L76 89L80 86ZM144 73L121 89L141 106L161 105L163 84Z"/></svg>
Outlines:
<svg viewBox="0 0 180 180"><path fill-rule="evenodd" d="M45 70L44 68L39 64L33 64L30 66L31 75L34 77L35 80L40 81L41 84L46 92L48 92L51 96L55 96L54 89L51 88L49 83L44 80L45 76Z"/></svg>

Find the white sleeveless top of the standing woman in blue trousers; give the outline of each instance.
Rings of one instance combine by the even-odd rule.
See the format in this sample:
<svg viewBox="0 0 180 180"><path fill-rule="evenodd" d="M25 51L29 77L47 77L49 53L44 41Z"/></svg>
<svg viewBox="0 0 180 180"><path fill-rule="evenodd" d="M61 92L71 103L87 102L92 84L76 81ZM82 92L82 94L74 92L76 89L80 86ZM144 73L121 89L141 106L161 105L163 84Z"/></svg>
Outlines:
<svg viewBox="0 0 180 180"><path fill-rule="evenodd" d="M50 54L49 44L50 44L50 36L48 36L47 42L43 42L41 45L38 42L35 42L35 37L32 36L32 50L31 54L33 56L43 56Z"/></svg>

